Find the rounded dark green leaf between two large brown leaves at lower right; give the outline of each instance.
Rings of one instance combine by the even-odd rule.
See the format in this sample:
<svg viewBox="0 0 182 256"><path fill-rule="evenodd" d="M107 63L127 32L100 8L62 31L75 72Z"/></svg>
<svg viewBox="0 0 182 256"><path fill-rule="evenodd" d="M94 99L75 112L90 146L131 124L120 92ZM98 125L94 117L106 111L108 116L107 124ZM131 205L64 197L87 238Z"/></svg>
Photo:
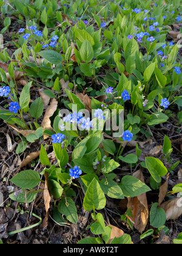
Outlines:
<svg viewBox="0 0 182 256"><path fill-rule="evenodd" d="M166 212L163 208L158 208L158 203L154 203L150 209L150 225L155 227L161 227L166 222Z"/></svg>

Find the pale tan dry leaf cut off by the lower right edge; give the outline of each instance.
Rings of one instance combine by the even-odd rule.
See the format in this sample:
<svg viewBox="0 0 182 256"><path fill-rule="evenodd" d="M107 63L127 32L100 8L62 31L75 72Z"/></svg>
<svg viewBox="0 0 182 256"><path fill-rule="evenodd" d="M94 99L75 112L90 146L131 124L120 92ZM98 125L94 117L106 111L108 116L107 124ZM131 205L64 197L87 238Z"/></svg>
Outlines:
<svg viewBox="0 0 182 256"><path fill-rule="evenodd" d="M182 198L176 197L160 205L166 212L166 219L177 219L182 214Z"/></svg>

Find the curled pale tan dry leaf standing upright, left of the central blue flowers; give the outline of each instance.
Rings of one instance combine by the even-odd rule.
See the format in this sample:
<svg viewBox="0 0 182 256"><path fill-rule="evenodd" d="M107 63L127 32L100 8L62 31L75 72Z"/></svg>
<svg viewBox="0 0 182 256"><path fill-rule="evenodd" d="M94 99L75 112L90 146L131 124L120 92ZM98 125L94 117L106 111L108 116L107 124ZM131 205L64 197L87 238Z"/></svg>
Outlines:
<svg viewBox="0 0 182 256"><path fill-rule="evenodd" d="M50 117L53 116L53 113L55 113L57 107L58 107L58 101L56 101L56 99L52 99L49 107L45 111L44 119L42 120L41 127L43 127L44 130L45 129L53 130L51 126ZM45 138L49 138L49 136L44 134L44 139Z"/></svg>

